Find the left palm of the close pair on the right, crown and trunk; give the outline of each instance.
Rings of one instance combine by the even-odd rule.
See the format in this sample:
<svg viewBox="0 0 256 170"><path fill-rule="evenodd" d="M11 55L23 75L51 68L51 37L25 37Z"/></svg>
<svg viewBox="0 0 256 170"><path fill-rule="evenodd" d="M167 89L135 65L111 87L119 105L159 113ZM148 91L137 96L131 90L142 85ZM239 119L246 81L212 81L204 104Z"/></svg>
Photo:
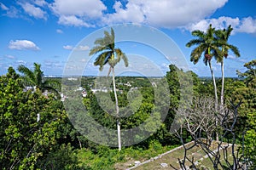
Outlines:
<svg viewBox="0 0 256 170"><path fill-rule="evenodd" d="M212 63L211 59L214 56L218 56L220 53L218 46L216 46L215 38L214 38L214 31L215 28L212 28L212 25L210 25L207 29L207 32L195 30L192 31L192 35L194 37L197 37L196 39L190 40L186 46L191 47L193 45L197 45L196 48L194 48L190 54L190 61L194 64L197 64L199 59L201 59L202 54L204 54L204 63L205 65L209 65L211 75L212 75L212 82L213 82L213 88L214 88L214 96L215 96L215 110L217 111L218 108L218 95L217 95L217 87L216 87L216 81L212 70Z"/></svg>

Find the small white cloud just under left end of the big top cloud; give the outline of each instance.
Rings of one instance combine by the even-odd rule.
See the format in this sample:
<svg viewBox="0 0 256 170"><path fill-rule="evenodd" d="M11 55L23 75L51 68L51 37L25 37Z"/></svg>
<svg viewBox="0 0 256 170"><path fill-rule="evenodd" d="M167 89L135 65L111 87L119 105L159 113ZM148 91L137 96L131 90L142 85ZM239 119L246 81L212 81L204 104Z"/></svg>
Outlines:
<svg viewBox="0 0 256 170"><path fill-rule="evenodd" d="M58 23L62 24L62 25L67 25L67 26L90 27L90 25L87 24L86 22L84 22L84 20L79 19L75 15L69 15L69 16L61 15L61 17L59 18Z"/></svg>

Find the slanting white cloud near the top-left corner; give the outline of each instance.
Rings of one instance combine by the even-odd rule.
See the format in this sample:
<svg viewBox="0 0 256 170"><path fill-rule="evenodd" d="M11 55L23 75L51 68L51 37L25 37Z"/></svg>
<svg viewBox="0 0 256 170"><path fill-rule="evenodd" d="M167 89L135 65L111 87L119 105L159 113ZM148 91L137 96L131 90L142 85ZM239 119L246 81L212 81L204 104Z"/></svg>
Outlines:
<svg viewBox="0 0 256 170"><path fill-rule="evenodd" d="M30 16L33 16L37 19L44 19L46 20L45 12L38 7L35 7L34 5L30 3L20 3L21 7L26 11L27 14Z"/></svg>

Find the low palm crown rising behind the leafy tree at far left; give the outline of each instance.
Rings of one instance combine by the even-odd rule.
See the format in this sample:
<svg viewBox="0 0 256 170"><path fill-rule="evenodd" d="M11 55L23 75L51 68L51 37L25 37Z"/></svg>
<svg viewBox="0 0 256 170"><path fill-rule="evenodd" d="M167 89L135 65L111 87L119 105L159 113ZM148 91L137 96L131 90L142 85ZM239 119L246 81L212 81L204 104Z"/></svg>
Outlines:
<svg viewBox="0 0 256 170"><path fill-rule="evenodd" d="M24 75L24 77L22 77L22 82L25 86L34 86L42 92L48 90L60 98L57 89L61 88L61 83L55 80L44 80L44 72L41 71L41 65L34 63L33 71L25 65L19 65L18 71Z"/></svg>

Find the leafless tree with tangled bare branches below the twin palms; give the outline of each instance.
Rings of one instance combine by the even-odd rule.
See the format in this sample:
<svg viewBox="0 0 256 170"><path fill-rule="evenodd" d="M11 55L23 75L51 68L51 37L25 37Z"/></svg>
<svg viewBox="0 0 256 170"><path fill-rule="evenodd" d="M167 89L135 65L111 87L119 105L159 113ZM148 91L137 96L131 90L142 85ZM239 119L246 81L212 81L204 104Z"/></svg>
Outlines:
<svg viewBox="0 0 256 170"><path fill-rule="evenodd" d="M177 131L177 135L181 142L183 143L184 156L183 160L179 160L180 167L182 169L187 169L193 167L194 169L200 169L198 162L194 160L194 157L189 158L187 155L188 150L194 148L195 146L200 146L201 150L204 151L207 158L212 162L212 167L214 169L247 169L247 161L244 159L243 152L241 153L239 149L236 149L236 133L235 126L238 116L238 107L241 102L237 105L230 103L233 110L225 108L224 111L212 110L212 99L201 98L196 99L194 105L190 109L184 108L177 112L180 116L181 128ZM223 114L224 113L224 114ZM218 119L218 125L214 120ZM185 128L192 139L194 144L187 147L183 142L183 128ZM212 134L218 129L221 130L220 141L217 143L217 147L212 147ZM230 137L231 136L231 137ZM224 140L231 139L231 143L224 143ZM242 148L243 149L243 148ZM231 150L231 153L230 151ZM240 155L241 153L241 155ZM231 158L229 155L231 154ZM189 162L189 163L187 163Z"/></svg>

